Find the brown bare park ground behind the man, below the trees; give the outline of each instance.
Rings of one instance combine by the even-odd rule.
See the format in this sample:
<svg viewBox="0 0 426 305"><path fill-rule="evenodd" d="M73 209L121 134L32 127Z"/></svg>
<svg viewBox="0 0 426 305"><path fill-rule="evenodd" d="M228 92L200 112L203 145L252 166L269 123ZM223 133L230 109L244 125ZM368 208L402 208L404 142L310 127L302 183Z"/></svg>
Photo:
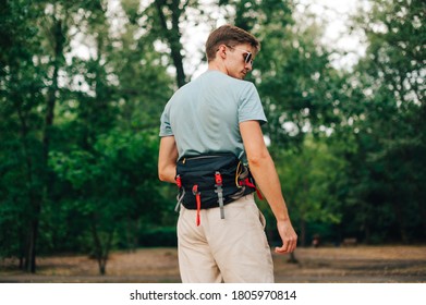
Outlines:
<svg viewBox="0 0 426 305"><path fill-rule="evenodd" d="M426 283L426 246L300 247L273 254L278 283ZM0 260L3 283L179 283L175 248L113 252L107 274L87 256L39 257L36 274L24 273L13 259Z"/></svg>

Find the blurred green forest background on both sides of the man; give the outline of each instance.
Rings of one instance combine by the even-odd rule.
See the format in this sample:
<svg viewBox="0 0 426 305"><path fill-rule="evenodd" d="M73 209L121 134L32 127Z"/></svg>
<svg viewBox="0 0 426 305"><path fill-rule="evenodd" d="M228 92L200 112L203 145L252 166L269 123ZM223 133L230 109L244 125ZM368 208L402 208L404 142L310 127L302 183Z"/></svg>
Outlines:
<svg viewBox="0 0 426 305"><path fill-rule="evenodd" d="M424 243L426 3L358 3L352 52L308 1L1 0L0 258L89 254L105 273L113 249L175 245L159 117L205 65L188 40L222 23L261 40L247 80L300 246Z"/></svg>

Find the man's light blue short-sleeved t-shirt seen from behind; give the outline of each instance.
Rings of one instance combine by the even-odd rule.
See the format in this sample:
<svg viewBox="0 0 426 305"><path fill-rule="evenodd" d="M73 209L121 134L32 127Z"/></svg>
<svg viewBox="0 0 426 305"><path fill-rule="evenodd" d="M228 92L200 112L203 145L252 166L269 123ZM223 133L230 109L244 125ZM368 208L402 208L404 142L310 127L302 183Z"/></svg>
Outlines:
<svg viewBox="0 0 426 305"><path fill-rule="evenodd" d="M251 120L267 121L256 87L209 70L168 101L160 136L174 136L179 159L211 152L234 152L245 159L240 123Z"/></svg>

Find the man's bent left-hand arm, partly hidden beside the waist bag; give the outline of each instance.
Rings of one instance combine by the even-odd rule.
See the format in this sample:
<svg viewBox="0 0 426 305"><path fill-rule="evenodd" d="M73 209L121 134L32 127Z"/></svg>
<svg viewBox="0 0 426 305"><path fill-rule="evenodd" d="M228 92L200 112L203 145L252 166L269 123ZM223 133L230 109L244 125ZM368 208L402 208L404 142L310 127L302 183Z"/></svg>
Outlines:
<svg viewBox="0 0 426 305"><path fill-rule="evenodd" d="M161 181L174 183L178 156L174 136L161 137L158 154L158 178Z"/></svg>

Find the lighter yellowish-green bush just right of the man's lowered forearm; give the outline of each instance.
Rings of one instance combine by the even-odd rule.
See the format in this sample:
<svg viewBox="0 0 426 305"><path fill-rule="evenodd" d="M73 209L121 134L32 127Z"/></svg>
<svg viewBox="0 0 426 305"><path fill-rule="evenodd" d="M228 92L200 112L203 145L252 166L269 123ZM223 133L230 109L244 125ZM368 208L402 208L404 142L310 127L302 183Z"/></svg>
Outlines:
<svg viewBox="0 0 426 305"><path fill-rule="evenodd" d="M339 194L344 185L345 161L325 137L307 136L300 151L287 150L277 158L284 194L291 199L292 219L300 230L301 246L309 244L308 223L341 222Z"/></svg>

